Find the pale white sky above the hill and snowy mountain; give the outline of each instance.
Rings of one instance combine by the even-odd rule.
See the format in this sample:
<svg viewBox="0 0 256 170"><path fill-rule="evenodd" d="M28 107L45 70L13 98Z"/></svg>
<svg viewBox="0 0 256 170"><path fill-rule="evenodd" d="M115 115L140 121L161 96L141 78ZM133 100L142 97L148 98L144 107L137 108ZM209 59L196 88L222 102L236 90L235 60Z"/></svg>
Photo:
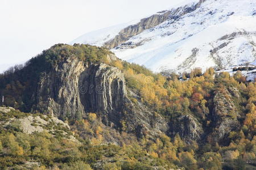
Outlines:
<svg viewBox="0 0 256 170"><path fill-rule="evenodd" d="M188 0L0 0L0 73L56 43Z"/></svg>

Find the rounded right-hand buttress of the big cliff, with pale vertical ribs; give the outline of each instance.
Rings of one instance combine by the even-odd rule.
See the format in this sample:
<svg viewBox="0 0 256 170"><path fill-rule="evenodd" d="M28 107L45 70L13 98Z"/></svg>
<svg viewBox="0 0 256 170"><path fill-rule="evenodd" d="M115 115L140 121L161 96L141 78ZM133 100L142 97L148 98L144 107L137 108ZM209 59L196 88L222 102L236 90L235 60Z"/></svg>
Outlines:
<svg viewBox="0 0 256 170"><path fill-rule="evenodd" d="M117 124L126 100L122 72L105 63L92 65L80 74L79 84L80 100L85 112L100 113L106 123Z"/></svg>

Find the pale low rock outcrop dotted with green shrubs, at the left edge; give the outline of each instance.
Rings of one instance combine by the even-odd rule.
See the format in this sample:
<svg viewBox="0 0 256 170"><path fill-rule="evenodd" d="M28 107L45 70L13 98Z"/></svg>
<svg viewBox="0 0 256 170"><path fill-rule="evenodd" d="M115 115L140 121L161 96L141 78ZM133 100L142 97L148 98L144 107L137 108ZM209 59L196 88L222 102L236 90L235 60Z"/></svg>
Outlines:
<svg viewBox="0 0 256 170"><path fill-rule="evenodd" d="M77 139L71 135L69 125L56 117L40 113L22 113L11 107L0 107L0 114L5 117L0 121L2 128L15 129L26 134L41 133L43 131L52 135L59 133L69 140L78 142ZM9 117L6 117L6 115L9 115Z"/></svg>

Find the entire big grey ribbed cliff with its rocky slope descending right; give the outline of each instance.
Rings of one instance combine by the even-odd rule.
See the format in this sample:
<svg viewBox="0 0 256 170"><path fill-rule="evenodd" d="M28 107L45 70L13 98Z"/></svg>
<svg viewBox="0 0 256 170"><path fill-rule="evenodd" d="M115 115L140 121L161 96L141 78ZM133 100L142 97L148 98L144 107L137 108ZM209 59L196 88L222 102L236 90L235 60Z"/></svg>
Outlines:
<svg viewBox="0 0 256 170"><path fill-rule="evenodd" d="M167 131L164 118L141 103L134 104L127 91L133 94L117 67L84 64L77 58L69 58L43 75L35 94L34 111L54 113L59 118L97 113L104 124L135 133L137 137Z"/></svg>

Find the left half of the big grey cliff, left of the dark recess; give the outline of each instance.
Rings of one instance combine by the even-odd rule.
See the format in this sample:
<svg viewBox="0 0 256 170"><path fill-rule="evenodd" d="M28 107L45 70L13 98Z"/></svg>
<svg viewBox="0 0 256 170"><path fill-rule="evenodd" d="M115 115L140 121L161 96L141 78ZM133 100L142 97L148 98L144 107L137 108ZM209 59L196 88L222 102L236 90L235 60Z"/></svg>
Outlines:
<svg viewBox="0 0 256 170"><path fill-rule="evenodd" d="M69 58L44 74L36 92L34 110L55 114L56 117L84 114L79 95L79 77L86 69L77 58Z"/></svg>

